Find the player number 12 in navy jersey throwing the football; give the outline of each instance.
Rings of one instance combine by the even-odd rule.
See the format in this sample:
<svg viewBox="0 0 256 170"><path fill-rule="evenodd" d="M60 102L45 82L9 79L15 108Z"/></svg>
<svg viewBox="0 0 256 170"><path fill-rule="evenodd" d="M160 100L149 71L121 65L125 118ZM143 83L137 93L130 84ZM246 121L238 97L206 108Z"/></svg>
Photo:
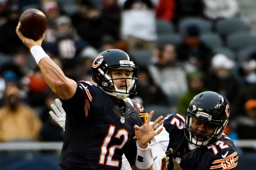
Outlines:
<svg viewBox="0 0 256 170"><path fill-rule="evenodd" d="M142 125L136 109L123 100L136 93L138 83L138 68L129 56L117 49L104 51L93 62L93 82L75 82L44 52L44 36L34 41L18 27L16 33L67 113L61 169L120 169L123 153L133 169L152 169L148 142L162 131L154 129L162 125L163 116L150 125L152 111Z"/></svg>

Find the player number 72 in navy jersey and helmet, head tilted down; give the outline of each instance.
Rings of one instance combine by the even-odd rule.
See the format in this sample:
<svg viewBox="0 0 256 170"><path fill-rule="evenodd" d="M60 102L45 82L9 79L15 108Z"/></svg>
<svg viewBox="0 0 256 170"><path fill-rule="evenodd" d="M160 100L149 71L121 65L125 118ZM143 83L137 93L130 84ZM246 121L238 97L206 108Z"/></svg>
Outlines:
<svg viewBox="0 0 256 170"><path fill-rule="evenodd" d="M168 169L234 169L238 152L223 133L228 123L229 105L222 95L205 91L191 101L186 117L176 113L164 119L173 149Z"/></svg>

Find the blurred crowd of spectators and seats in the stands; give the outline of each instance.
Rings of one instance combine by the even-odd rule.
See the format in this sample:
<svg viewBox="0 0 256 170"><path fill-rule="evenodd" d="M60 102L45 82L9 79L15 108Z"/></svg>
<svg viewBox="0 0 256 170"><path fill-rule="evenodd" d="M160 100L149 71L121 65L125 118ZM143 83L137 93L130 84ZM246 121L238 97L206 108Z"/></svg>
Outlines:
<svg viewBox="0 0 256 170"><path fill-rule="evenodd" d="M195 94L216 91L230 103L227 135L256 139L256 38L237 1L0 1L0 141L63 137L49 114L57 96L15 33L29 8L47 16L42 46L68 77L91 81L94 58L119 48L139 66L131 97L148 112L186 114Z"/></svg>

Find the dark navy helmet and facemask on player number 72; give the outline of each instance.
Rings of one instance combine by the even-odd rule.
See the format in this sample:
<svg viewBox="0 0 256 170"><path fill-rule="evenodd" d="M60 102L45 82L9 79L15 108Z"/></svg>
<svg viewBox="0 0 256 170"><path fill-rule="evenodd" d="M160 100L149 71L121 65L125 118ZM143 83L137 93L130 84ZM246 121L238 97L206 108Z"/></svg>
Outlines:
<svg viewBox="0 0 256 170"><path fill-rule="evenodd" d="M215 125L216 129L214 133L207 135L191 129L193 117ZM188 142L199 147L214 144L220 139L221 134L228 123L228 117L229 105L222 95L212 91L205 91L197 94L190 102L186 114L184 131ZM195 139L194 136L203 139L198 140Z"/></svg>

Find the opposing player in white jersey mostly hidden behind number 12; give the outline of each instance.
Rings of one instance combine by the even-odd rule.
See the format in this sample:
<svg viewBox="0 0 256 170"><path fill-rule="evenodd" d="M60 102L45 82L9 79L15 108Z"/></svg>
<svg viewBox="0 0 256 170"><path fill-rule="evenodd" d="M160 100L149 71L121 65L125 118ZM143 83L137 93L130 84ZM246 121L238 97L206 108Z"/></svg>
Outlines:
<svg viewBox="0 0 256 170"><path fill-rule="evenodd" d="M145 123L148 117L148 113L145 112L143 106L141 106L138 102L135 100L131 100L130 98L124 99L125 102L129 102L136 110L138 111L142 122ZM51 105L53 111L50 111L50 115L52 118L59 124L60 127L65 130L65 120L66 120L66 112L62 108L62 103L59 99L55 100L55 103ZM153 122L150 122L152 124ZM161 128L161 127L159 127ZM159 129L158 128L158 129ZM156 131L158 130L156 129ZM154 170L166 170L166 150L169 143L169 134L165 130L165 128L162 130L162 132L154 137L153 140L150 142L150 146L152 149L152 155L153 155L153 169ZM122 156L122 167L121 170L132 170L131 165L129 161L126 159L126 157Z"/></svg>

